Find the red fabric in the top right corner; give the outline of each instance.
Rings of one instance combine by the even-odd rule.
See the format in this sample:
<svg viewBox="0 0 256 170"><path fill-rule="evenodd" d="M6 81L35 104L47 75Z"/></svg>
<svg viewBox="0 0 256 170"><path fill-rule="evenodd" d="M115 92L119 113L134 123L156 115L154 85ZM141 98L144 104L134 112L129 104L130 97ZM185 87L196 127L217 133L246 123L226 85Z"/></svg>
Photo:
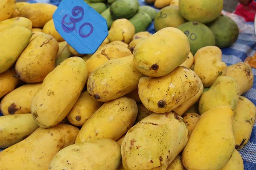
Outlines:
<svg viewBox="0 0 256 170"><path fill-rule="evenodd" d="M249 5L244 6L239 4L236 7L235 14L244 17L246 22L253 22L256 14L256 0L253 0Z"/></svg>

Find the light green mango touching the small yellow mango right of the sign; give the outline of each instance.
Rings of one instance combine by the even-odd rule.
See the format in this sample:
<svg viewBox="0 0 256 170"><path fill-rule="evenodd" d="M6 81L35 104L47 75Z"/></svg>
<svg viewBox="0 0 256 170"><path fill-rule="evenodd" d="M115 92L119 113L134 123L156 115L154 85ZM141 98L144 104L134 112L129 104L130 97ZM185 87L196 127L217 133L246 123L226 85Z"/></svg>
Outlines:
<svg viewBox="0 0 256 170"><path fill-rule="evenodd" d="M138 12L129 21L134 25L135 34L146 31L152 22L151 17L144 12Z"/></svg>

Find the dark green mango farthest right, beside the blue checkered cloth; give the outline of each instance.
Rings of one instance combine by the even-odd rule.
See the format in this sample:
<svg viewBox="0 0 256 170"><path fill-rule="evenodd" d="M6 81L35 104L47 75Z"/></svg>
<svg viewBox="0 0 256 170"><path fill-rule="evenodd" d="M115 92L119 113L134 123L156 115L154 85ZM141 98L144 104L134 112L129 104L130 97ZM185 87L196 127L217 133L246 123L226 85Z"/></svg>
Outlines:
<svg viewBox="0 0 256 170"><path fill-rule="evenodd" d="M219 48L230 47L236 42L239 36L239 28L236 22L223 14L213 22L207 24L207 26L212 30L215 36L216 46Z"/></svg>

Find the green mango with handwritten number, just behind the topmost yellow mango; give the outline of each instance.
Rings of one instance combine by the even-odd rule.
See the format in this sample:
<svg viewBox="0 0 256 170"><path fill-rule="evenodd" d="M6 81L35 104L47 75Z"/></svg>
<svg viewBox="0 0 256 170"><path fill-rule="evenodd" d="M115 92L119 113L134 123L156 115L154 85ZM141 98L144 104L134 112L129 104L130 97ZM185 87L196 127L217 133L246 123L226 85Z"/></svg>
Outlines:
<svg viewBox="0 0 256 170"><path fill-rule="evenodd" d="M203 47L215 46L215 37L210 28L203 23L187 22L177 27L188 37L193 55Z"/></svg>

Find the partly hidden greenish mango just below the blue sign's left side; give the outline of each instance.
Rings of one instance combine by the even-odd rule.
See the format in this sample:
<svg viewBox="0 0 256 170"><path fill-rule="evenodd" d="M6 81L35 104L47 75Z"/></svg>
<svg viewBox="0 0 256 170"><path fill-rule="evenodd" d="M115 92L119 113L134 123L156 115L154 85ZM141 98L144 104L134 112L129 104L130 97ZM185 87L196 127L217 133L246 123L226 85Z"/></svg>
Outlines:
<svg viewBox="0 0 256 170"><path fill-rule="evenodd" d="M67 47L67 42L58 42L59 50L55 61L55 66L59 65L61 62L63 62L65 59L71 57L71 52L69 51Z"/></svg>

